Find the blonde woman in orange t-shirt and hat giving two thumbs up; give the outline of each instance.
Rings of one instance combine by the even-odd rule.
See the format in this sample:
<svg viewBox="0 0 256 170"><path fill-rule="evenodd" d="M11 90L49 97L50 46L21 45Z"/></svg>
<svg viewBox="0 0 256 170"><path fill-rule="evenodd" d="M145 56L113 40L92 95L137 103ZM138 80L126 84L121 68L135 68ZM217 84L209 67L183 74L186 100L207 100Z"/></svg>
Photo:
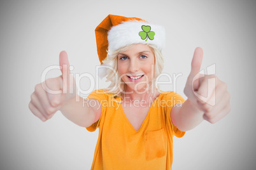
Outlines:
<svg viewBox="0 0 256 170"><path fill-rule="evenodd" d="M62 51L62 75L36 85L29 103L42 121L60 110L78 126L89 131L99 128L91 169L171 169L173 136L180 138L203 120L214 123L229 113L227 85L215 75L198 74L201 48L192 59L184 89L187 100L173 91L160 91L156 79L164 65L165 41L160 25L108 15L96 28L96 41L102 67L108 68L108 88L96 89L86 101L71 93L76 86L68 55ZM215 84L208 84L209 78L215 78ZM204 98L206 94L210 95ZM213 101L215 105L210 104Z"/></svg>

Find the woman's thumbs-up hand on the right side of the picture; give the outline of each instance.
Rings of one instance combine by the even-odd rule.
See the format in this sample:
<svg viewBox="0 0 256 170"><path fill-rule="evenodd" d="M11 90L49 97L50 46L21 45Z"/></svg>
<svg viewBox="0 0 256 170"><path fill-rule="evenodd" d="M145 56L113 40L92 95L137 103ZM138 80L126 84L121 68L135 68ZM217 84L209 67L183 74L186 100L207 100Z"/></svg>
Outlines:
<svg viewBox="0 0 256 170"><path fill-rule="evenodd" d="M216 75L199 74L202 61L203 49L196 48L184 93L192 105L204 112L204 120L215 123L230 112L231 96L227 84Z"/></svg>

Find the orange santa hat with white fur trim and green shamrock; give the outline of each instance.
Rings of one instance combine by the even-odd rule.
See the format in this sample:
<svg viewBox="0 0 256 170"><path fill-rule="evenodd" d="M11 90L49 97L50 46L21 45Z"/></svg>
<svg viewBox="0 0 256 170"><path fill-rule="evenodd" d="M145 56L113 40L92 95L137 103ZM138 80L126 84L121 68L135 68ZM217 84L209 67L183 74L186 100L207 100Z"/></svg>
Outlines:
<svg viewBox="0 0 256 170"><path fill-rule="evenodd" d="M160 25L150 24L135 17L108 15L95 29L99 61L108 51L115 51L131 44L154 44L159 50L164 48L165 30Z"/></svg>

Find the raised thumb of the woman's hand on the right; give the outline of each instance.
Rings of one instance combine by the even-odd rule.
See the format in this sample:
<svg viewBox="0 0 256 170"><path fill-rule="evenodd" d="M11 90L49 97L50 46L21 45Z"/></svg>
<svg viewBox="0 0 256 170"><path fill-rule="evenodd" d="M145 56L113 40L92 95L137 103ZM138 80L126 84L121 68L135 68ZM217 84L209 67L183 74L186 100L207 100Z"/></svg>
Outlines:
<svg viewBox="0 0 256 170"><path fill-rule="evenodd" d="M196 75L200 72L200 68L203 62L203 49L197 47L194 52L194 56L191 62L191 74Z"/></svg>

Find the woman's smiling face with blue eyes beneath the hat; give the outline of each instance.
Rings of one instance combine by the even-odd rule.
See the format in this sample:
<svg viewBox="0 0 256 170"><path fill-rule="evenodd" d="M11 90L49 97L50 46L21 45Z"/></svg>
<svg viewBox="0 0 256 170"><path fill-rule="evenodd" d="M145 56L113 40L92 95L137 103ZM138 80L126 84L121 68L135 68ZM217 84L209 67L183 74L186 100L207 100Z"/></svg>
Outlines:
<svg viewBox="0 0 256 170"><path fill-rule="evenodd" d="M146 44L134 44L117 55L118 73L126 91L145 91L153 79L155 56Z"/></svg>

